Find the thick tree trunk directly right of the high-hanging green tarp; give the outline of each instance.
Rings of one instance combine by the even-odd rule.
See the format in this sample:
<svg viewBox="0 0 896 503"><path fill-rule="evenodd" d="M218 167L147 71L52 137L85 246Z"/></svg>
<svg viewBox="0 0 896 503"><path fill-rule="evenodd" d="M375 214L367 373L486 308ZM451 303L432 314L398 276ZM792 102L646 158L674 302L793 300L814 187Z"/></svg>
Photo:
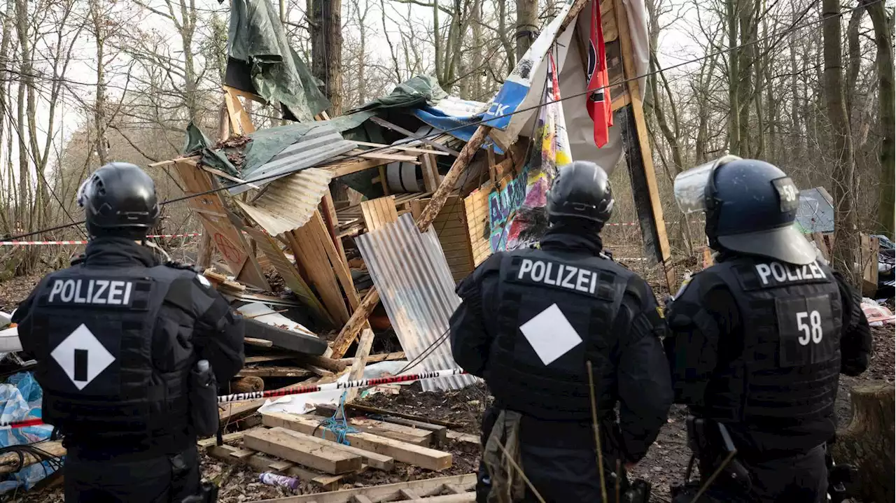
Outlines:
<svg viewBox="0 0 896 503"><path fill-rule="evenodd" d="M311 72L323 81L331 117L342 114L342 0L311 2Z"/></svg>

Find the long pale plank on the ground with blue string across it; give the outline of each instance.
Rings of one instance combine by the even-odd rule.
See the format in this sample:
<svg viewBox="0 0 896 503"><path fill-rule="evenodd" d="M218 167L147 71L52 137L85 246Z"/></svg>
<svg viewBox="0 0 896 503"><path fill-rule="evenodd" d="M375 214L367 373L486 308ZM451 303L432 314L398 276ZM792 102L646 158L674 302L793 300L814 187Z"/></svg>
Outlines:
<svg viewBox="0 0 896 503"><path fill-rule="evenodd" d="M287 413L263 413L262 422L265 426L284 427L289 430L314 434L319 432L319 422L311 417ZM327 439L335 439L336 435L329 430L323 431ZM387 439L366 432L348 433L345 439L349 445L364 450L373 451L385 456L392 456L397 461L417 465L427 470L440 471L450 468L452 465L451 453L415 446L407 442L395 439Z"/></svg>

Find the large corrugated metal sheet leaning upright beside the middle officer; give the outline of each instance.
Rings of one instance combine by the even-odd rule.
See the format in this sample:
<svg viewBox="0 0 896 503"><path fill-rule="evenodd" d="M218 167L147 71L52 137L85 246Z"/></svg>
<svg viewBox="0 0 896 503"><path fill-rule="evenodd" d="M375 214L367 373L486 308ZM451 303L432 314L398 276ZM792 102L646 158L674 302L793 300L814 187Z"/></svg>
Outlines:
<svg viewBox="0 0 896 503"><path fill-rule="evenodd" d="M417 358L437 339L444 339L415 370L457 367L451 341L443 336L461 298L454 294L451 270L432 227L420 234L413 217L406 213L394 224L358 236L358 248L408 360ZM422 384L424 390L432 391L463 388L477 380L468 375L451 376Z"/></svg>

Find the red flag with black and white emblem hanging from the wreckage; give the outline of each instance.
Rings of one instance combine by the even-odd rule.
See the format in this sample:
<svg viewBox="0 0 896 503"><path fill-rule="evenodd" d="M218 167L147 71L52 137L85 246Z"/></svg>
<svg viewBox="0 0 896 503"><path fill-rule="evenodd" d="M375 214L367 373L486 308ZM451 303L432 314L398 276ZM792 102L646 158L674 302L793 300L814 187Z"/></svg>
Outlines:
<svg viewBox="0 0 896 503"><path fill-rule="evenodd" d="M591 38L588 45L588 115L594 121L594 144L603 147L609 141L613 125L613 106L607 76L607 49L600 24L600 2L591 2Z"/></svg>

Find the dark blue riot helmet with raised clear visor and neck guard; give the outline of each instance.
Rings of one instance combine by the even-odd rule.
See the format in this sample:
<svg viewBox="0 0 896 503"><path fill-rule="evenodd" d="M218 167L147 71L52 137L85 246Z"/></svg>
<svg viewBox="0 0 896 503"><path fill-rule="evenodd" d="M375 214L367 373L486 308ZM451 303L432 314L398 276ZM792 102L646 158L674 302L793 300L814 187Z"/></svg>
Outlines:
<svg viewBox="0 0 896 503"><path fill-rule="evenodd" d="M678 175L675 185L685 212L700 205L705 209L713 250L801 265L815 260L813 246L793 225L799 189L777 166L726 156ZM702 204L694 204L694 195L702 196Z"/></svg>

